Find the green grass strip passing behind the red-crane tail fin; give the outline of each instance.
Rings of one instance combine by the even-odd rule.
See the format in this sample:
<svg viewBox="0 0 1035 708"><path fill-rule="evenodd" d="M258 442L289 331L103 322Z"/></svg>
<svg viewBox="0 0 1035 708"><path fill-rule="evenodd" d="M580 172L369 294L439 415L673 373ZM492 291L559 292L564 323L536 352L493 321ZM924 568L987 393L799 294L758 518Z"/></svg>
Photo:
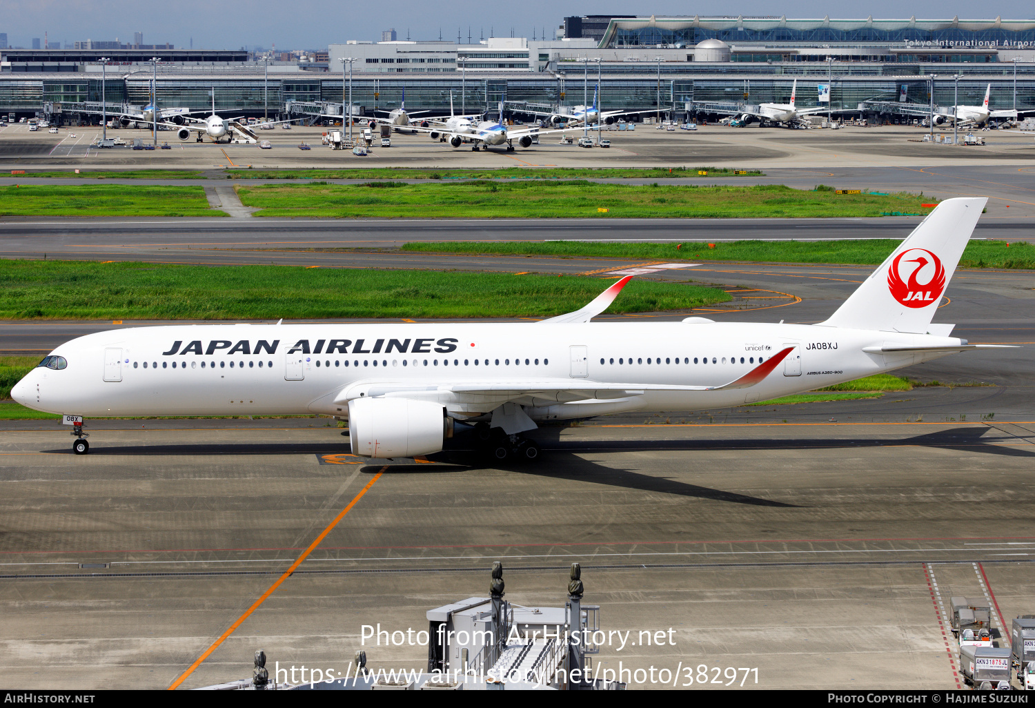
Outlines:
<svg viewBox="0 0 1035 708"><path fill-rule="evenodd" d="M905 233L905 229L904 229ZM776 263L841 263L879 265L900 241L894 239L839 241L733 241L708 243L615 243L599 241L451 241L405 243L403 250L460 254L557 256L561 258L622 258L667 261L759 261ZM1035 268L1035 245L1027 241L971 241L959 261L963 268Z"/></svg>

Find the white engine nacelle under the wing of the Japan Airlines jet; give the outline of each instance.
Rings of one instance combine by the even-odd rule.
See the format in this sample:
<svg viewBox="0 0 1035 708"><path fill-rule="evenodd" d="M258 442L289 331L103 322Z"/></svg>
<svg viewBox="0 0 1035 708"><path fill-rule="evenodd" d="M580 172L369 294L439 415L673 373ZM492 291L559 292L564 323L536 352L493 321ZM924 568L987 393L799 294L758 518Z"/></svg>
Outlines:
<svg viewBox="0 0 1035 708"><path fill-rule="evenodd" d="M352 453L364 458L412 458L438 452L451 437L452 418L431 401L353 399L349 402Z"/></svg>

